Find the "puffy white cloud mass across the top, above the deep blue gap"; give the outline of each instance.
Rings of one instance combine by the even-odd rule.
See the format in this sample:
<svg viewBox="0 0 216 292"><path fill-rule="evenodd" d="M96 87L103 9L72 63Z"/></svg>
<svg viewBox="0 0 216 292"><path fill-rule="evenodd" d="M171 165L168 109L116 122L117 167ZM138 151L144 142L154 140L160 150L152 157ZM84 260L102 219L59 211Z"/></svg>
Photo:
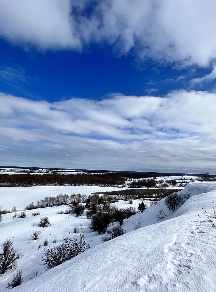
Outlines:
<svg viewBox="0 0 216 292"><path fill-rule="evenodd" d="M0 35L26 48L105 43L118 55L206 67L216 57L215 12L214 0L8 0Z"/></svg>

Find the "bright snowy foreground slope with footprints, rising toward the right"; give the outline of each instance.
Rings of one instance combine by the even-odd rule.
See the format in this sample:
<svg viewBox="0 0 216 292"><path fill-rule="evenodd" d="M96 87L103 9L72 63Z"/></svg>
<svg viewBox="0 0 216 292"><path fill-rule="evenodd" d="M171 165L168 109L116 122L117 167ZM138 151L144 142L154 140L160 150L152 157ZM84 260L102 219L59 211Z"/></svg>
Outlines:
<svg viewBox="0 0 216 292"><path fill-rule="evenodd" d="M192 197L176 212L169 212L161 200L124 220L126 234L98 244L13 291L215 291L215 229L198 215L205 220L203 206L212 209L216 183L189 183L182 193L187 191ZM167 214L162 222L156 218L161 208ZM138 219L142 228L133 230Z"/></svg>

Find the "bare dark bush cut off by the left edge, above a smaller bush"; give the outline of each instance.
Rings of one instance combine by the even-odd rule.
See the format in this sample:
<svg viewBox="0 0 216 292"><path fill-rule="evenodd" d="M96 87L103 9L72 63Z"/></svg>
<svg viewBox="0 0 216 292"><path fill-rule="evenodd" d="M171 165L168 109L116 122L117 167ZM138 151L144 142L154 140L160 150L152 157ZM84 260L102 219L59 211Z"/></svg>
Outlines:
<svg viewBox="0 0 216 292"><path fill-rule="evenodd" d="M13 269L17 266L17 260L22 257L22 253L16 248L10 240L3 242L0 254L0 274L4 274L6 270Z"/></svg>

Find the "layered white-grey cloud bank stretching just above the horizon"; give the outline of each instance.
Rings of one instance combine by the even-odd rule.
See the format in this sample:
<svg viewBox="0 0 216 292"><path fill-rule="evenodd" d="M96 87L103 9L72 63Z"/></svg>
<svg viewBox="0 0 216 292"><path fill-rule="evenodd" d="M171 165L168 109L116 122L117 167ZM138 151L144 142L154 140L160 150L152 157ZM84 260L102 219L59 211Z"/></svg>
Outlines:
<svg viewBox="0 0 216 292"><path fill-rule="evenodd" d="M101 101L54 103L1 93L0 103L0 145L12 147L2 148L2 164L214 169L214 93L180 90L163 98L113 94Z"/></svg>

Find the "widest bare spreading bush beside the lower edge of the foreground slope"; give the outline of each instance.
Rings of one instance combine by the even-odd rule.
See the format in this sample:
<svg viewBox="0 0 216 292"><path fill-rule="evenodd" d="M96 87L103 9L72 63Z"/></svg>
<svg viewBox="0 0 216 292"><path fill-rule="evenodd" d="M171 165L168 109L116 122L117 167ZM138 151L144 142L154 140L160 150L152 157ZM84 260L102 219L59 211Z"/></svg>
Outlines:
<svg viewBox="0 0 216 292"><path fill-rule="evenodd" d="M87 251L90 248L91 241L87 244L85 240L83 241L84 238L85 234L82 232L80 234L80 241L73 237L69 238L68 241L61 242L57 246L47 247L41 258L44 269L49 270Z"/></svg>

